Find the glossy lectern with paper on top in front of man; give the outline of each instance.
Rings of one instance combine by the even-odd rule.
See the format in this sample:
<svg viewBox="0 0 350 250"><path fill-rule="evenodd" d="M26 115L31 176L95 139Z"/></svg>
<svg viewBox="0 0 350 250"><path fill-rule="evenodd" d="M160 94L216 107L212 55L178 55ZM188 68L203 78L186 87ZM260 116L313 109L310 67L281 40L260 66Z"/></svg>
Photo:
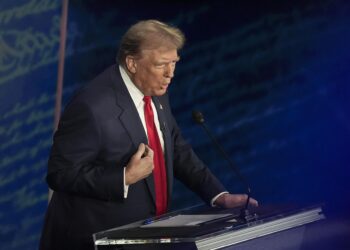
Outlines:
<svg viewBox="0 0 350 250"><path fill-rule="evenodd" d="M303 225L324 218L319 205L253 208L248 221L242 218L239 209L200 205L98 232L93 239L96 250L239 249L237 246L242 242L256 241L279 232L290 232L297 241L301 235L298 230Z"/></svg>

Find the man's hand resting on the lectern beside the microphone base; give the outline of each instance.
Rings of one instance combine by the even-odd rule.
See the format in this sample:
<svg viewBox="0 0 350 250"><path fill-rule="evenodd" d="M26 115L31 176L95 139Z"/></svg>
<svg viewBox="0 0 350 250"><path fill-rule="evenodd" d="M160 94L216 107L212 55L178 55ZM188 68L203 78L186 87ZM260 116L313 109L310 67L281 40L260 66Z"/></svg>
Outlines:
<svg viewBox="0 0 350 250"><path fill-rule="evenodd" d="M242 207L247 202L248 195L246 194L222 194L220 195L214 202L216 206L222 208L234 208L234 207ZM258 202L250 198L249 205L254 207L258 206Z"/></svg>

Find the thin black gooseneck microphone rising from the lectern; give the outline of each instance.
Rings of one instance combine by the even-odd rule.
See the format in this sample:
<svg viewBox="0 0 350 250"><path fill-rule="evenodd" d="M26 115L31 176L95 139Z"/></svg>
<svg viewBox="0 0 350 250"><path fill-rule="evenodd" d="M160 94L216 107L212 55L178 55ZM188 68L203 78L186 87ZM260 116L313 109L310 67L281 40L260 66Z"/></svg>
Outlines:
<svg viewBox="0 0 350 250"><path fill-rule="evenodd" d="M247 180L244 178L244 176L241 174L239 168L233 164L233 162L231 161L230 157L227 155L227 153L225 152L225 150L222 148L222 146L220 145L220 143L216 140L215 136L213 135L213 133L211 133L211 131L208 129L208 127L205 125L204 123L204 117L203 114L200 111L192 111L192 118L193 120L198 123L199 125L202 126L202 128L204 129L204 131L206 132L206 134L210 137L210 139L212 140L212 142L214 143L215 148L222 154L222 156L224 157L224 159L229 163L229 166L232 168L232 170L235 172L236 176L238 177L238 179L240 180L241 183L244 184L244 186L247 189L247 200L246 203L244 205L244 207L241 210L241 214L240 217L242 219L244 219L246 222L252 221L253 219L256 218L256 214L251 215L248 209L248 205L249 205L249 200L251 197L251 189L250 186L247 182Z"/></svg>

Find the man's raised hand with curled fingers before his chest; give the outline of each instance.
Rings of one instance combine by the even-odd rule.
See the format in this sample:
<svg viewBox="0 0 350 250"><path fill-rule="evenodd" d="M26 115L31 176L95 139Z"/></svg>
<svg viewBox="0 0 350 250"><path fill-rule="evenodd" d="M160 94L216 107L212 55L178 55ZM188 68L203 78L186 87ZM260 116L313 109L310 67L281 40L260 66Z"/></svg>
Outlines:
<svg viewBox="0 0 350 250"><path fill-rule="evenodd" d="M141 143L125 168L125 185L131 185L149 176L153 171L153 151Z"/></svg>

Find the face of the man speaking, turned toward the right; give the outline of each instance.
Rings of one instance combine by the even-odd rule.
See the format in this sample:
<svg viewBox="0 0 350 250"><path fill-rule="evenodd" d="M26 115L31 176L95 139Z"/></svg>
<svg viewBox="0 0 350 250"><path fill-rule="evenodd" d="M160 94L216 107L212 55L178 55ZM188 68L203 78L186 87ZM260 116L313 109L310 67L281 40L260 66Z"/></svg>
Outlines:
<svg viewBox="0 0 350 250"><path fill-rule="evenodd" d="M164 95L174 77L176 62L179 61L177 50L160 47L141 53L139 58L126 59L131 80L144 95Z"/></svg>

